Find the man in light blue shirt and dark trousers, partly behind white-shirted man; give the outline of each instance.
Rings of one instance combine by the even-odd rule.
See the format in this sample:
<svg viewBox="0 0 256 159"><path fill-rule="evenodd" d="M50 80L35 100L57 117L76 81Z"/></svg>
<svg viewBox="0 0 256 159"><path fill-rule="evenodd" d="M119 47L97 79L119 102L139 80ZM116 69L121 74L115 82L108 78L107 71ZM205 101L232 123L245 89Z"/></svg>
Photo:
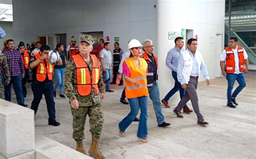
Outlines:
<svg viewBox="0 0 256 159"><path fill-rule="evenodd" d="M185 95L185 89L183 89L177 79L177 67L178 67L178 57L180 53L184 52L183 46L184 46L184 40L182 37L177 37L175 40L175 46L172 48L166 57L165 64L167 67L169 67L172 70L172 77L175 81L173 88L167 93L167 95L164 97L164 99L161 100L161 102L165 105L165 107L170 107L168 105L168 100L177 92L179 91L180 99ZM190 110L187 105L185 104L183 107L183 111L187 114L193 112Z"/></svg>

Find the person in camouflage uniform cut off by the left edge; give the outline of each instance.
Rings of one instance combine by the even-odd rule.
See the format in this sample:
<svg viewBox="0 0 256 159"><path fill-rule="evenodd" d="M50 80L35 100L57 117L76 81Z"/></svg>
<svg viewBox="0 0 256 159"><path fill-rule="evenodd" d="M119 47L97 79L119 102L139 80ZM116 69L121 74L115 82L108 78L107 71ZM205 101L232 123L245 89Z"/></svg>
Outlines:
<svg viewBox="0 0 256 159"><path fill-rule="evenodd" d="M0 99L3 99L4 86L2 84L2 78L5 79L5 85L8 85L10 83L11 77L7 64L7 59L2 53L0 53L0 70L2 70L3 73L0 73Z"/></svg>

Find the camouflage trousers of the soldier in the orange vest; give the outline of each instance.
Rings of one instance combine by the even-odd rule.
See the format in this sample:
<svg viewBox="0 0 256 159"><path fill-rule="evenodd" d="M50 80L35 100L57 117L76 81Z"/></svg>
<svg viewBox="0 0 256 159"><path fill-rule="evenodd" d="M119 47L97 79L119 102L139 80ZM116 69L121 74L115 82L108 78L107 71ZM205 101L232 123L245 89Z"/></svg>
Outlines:
<svg viewBox="0 0 256 159"><path fill-rule="evenodd" d="M73 115L73 139L84 139L84 125L86 115L88 114L92 138L99 140L104 123L102 104L93 106L79 106L78 110L71 108L71 112Z"/></svg>

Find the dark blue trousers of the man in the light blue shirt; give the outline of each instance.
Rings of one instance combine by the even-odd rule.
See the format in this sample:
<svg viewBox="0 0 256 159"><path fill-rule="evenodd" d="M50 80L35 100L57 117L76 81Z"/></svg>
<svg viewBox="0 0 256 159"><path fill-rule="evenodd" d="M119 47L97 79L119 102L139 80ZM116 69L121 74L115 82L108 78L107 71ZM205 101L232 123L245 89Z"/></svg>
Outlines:
<svg viewBox="0 0 256 159"><path fill-rule="evenodd" d="M164 97L164 100L166 102L168 102L168 100L178 91L179 91L180 99L185 95L185 89L183 89L181 87L181 84L179 83L178 78L177 78L177 73L175 71L172 71L172 77L175 81L175 84L174 84L173 88L169 91L169 93L167 93L167 95ZM184 108L185 107L187 107L186 104L184 105Z"/></svg>

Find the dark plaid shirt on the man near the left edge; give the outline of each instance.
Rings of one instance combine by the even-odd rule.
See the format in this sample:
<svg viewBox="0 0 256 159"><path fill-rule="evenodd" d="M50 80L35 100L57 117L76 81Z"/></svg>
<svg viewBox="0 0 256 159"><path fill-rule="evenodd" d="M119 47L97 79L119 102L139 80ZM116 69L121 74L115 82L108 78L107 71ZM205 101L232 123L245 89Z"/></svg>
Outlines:
<svg viewBox="0 0 256 159"><path fill-rule="evenodd" d="M6 49L3 54L5 55L11 76L25 75L24 65L22 62L21 54L18 50L13 51Z"/></svg>

